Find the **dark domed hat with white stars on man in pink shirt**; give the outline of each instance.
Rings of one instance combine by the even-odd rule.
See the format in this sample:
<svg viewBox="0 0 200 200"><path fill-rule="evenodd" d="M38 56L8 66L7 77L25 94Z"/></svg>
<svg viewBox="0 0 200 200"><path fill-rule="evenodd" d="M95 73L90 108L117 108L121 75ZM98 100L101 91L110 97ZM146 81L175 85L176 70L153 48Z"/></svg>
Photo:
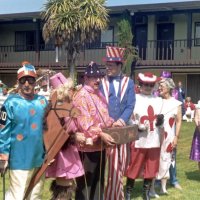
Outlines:
<svg viewBox="0 0 200 200"><path fill-rule="evenodd" d="M98 65L93 61L85 69L85 76L87 77L101 77L104 74L100 71Z"/></svg>

